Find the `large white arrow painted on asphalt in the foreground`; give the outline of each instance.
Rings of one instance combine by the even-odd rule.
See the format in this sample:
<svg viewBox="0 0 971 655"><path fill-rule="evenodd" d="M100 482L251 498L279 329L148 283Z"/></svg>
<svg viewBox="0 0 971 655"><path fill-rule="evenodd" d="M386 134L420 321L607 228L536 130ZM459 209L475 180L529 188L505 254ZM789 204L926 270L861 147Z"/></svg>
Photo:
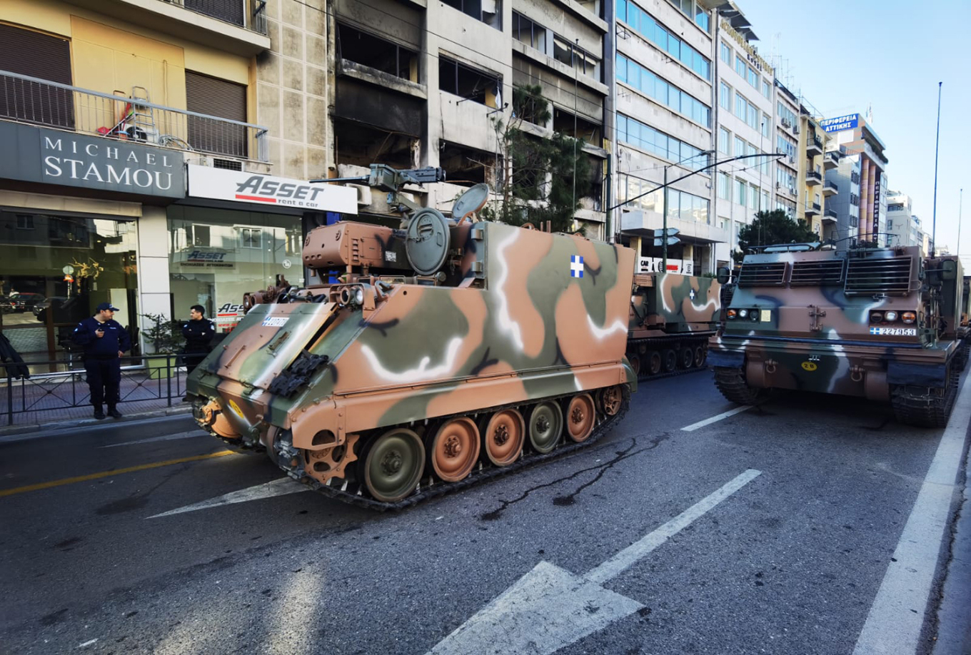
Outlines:
<svg viewBox="0 0 971 655"><path fill-rule="evenodd" d="M643 607L601 585L751 482L750 469L586 575L540 562L428 655L549 655Z"/></svg>

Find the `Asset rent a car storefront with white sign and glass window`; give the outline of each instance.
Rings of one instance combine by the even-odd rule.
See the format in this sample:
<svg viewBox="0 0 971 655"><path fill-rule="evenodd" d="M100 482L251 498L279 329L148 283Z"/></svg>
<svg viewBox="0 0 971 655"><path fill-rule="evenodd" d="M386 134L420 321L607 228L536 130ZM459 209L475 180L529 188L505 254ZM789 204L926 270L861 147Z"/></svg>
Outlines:
<svg viewBox="0 0 971 655"><path fill-rule="evenodd" d="M306 284L308 229L357 213L352 188L189 164L188 194L168 208L172 315L206 308L220 333L243 315L243 295L281 278Z"/></svg>

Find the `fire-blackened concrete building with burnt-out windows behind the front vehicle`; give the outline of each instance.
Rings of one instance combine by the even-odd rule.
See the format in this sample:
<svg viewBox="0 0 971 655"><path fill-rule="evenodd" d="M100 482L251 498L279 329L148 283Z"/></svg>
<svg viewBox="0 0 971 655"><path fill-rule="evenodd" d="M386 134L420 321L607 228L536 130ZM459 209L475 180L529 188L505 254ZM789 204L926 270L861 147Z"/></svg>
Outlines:
<svg viewBox="0 0 971 655"><path fill-rule="evenodd" d="M577 180L576 223L606 235L608 26L600 0L375 0L331 3L328 49L329 174L372 162L441 166L448 182L416 189L420 202L451 208L459 186L497 189L504 167L496 119L508 125L515 88L539 85L548 118L522 118L535 138L582 138L590 177ZM516 176L516 171L512 171ZM456 184L458 186L456 186ZM364 195L364 194L362 194ZM363 211L380 213L382 203Z"/></svg>

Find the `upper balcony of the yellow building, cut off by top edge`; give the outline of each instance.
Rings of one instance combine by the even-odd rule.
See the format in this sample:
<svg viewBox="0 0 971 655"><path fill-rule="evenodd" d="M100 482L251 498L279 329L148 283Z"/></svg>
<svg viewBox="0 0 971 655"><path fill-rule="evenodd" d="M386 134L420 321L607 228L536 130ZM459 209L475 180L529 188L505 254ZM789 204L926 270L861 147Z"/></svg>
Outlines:
<svg viewBox="0 0 971 655"><path fill-rule="evenodd" d="M270 49L265 0L68 0L107 16L253 56Z"/></svg>

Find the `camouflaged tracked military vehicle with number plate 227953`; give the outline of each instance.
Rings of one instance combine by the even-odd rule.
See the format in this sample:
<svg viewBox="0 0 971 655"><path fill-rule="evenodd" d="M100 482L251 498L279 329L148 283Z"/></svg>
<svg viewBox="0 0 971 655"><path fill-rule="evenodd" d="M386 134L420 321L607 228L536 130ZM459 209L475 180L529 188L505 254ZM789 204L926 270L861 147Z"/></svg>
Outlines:
<svg viewBox="0 0 971 655"><path fill-rule="evenodd" d="M735 403L770 389L817 391L944 426L961 365L961 297L957 258L923 258L917 247L755 248L710 342L715 383Z"/></svg>

